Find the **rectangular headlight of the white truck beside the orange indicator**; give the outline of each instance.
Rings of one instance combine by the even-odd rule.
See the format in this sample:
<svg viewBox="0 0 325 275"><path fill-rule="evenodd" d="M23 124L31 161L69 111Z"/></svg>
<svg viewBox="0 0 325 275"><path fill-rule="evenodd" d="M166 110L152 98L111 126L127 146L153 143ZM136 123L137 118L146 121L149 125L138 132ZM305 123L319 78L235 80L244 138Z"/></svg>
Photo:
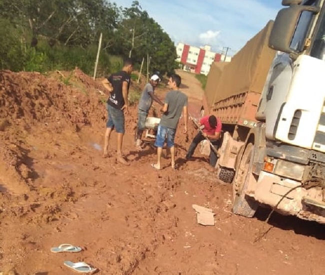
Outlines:
<svg viewBox="0 0 325 275"><path fill-rule="evenodd" d="M285 178L291 178L295 180L302 180L304 172L304 166L289 162L286 160L278 159L276 161L273 173Z"/></svg>

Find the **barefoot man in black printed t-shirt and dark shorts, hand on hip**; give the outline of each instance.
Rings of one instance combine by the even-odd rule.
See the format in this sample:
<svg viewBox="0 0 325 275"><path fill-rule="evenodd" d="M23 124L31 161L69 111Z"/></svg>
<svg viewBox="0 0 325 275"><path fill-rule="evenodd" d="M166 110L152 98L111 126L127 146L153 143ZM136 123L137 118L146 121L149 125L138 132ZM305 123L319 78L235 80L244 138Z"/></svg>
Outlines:
<svg viewBox="0 0 325 275"><path fill-rule="evenodd" d="M108 143L112 129L117 133L117 151L116 161L128 165L122 156L122 143L124 136L124 113L128 108L128 89L130 87L130 74L133 69L133 63L130 58L124 60L122 71L110 75L102 81L102 85L110 92L107 100L106 109L108 111L108 120L106 123L106 132L104 139L103 157L108 157Z"/></svg>

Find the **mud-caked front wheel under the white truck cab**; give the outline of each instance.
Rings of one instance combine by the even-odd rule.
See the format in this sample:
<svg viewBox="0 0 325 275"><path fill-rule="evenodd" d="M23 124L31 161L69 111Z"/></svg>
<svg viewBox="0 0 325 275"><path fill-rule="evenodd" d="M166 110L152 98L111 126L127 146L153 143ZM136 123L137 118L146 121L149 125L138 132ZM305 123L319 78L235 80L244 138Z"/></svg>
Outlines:
<svg viewBox="0 0 325 275"><path fill-rule="evenodd" d="M249 182L256 182L256 179L251 172L253 148L254 145L252 143L247 144L232 184L232 212L248 218L254 216L258 207L258 203L256 201L248 196L245 196L245 191Z"/></svg>

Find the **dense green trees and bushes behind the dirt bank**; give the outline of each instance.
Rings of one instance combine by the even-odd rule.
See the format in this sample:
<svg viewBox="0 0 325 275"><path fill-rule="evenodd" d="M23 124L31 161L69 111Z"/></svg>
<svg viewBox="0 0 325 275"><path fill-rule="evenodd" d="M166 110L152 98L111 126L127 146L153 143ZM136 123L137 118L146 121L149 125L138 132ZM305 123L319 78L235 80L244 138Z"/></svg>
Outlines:
<svg viewBox="0 0 325 275"><path fill-rule="evenodd" d="M122 68L172 72L176 51L169 36L133 1L118 8L106 0L0 0L0 68L13 71L72 70L92 75L102 34L97 76ZM149 64L147 64L149 56Z"/></svg>

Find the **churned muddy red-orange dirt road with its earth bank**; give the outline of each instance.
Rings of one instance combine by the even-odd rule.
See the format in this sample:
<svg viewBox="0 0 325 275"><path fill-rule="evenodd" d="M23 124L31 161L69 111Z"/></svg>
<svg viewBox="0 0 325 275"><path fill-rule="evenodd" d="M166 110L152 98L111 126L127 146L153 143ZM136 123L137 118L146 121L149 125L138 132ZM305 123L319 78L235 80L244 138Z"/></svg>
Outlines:
<svg viewBox="0 0 325 275"><path fill-rule="evenodd" d="M201 90L181 76L194 111ZM68 85L55 74L0 72L0 272L74 274L63 266L71 260L98 274L323 273L324 226L276 214L265 224L265 209L252 219L233 215L231 186L206 159L196 152L182 160L193 129L177 134L178 170L163 159L156 171L155 150L133 146L133 107L124 142L130 166L103 159L99 90L78 70ZM211 208L215 226L198 225L192 204ZM51 253L60 243L83 250Z"/></svg>

